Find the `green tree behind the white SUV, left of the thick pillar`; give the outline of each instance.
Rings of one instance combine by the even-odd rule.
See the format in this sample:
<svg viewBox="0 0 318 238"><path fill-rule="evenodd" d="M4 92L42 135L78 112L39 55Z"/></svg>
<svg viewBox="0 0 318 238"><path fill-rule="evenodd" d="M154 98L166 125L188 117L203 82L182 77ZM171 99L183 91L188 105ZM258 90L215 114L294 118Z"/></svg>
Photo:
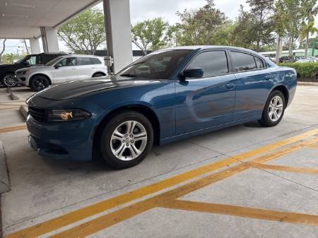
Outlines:
<svg viewBox="0 0 318 238"><path fill-rule="evenodd" d="M106 41L104 14L100 9L90 9L57 29L59 39L73 52L95 54Z"/></svg>

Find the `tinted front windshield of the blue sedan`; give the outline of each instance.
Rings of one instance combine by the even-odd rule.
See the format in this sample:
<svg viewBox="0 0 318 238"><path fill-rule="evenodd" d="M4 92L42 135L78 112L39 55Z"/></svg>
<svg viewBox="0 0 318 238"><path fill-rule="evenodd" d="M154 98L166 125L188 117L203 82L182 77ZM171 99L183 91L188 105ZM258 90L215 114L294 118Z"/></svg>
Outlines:
<svg viewBox="0 0 318 238"><path fill-rule="evenodd" d="M192 52L191 49L158 51L143 56L117 75L126 77L168 79L173 71Z"/></svg>

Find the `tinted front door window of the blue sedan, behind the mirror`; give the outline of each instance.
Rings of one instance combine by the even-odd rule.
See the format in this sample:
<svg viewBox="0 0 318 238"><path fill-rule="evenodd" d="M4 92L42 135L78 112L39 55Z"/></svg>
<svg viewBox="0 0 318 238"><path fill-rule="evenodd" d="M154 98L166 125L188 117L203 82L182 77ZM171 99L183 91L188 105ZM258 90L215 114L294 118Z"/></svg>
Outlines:
<svg viewBox="0 0 318 238"><path fill-rule="evenodd" d="M228 59L225 51L203 52L197 55L187 69L202 68L204 77L212 77L228 73Z"/></svg>

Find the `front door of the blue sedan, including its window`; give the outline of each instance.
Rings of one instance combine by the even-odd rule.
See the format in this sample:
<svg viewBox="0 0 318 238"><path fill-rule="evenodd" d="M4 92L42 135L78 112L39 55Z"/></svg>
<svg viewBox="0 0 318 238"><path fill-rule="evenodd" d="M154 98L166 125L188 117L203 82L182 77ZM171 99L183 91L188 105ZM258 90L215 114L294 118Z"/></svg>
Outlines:
<svg viewBox="0 0 318 238"><path fill-rule="evenodd" d="M176 133L184 134L232 121L236 78L224 50L201 52L187 69L202 68L202 78L176 83Z"/></svg>

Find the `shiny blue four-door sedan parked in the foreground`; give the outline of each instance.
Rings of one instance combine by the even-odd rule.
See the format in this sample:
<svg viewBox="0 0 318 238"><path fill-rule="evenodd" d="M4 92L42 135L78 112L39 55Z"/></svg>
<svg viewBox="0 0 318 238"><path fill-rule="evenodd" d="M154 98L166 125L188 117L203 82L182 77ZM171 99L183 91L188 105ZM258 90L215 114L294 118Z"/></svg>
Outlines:
<svg viewBox="0 0 318 238"><path fill-rule="evenodd" d="M175 47L117 73L47 88L27 100L39 155L114 168L162 145L248 121L276 126L297 85L294 69L237 47Z"/></svg>

